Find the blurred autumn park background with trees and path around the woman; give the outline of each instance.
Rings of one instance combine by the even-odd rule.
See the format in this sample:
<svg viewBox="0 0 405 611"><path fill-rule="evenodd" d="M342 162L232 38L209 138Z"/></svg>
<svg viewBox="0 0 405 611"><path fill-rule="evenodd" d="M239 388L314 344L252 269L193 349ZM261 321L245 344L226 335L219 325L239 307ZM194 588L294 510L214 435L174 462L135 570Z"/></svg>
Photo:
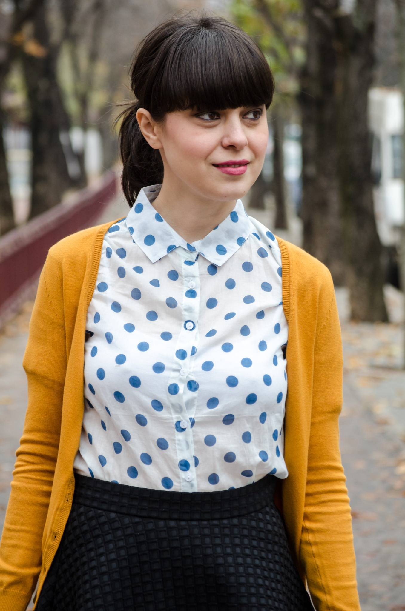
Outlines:
<svg viewBox="0 0 405 611"><path fill-rule="evenodd" d="M275 75L244 203L332 274L360 600L405 610L405 0L0 0L0 529L46 252L127 214L115 120L130 60L155 24L193 9L239 24Z"/></svg>

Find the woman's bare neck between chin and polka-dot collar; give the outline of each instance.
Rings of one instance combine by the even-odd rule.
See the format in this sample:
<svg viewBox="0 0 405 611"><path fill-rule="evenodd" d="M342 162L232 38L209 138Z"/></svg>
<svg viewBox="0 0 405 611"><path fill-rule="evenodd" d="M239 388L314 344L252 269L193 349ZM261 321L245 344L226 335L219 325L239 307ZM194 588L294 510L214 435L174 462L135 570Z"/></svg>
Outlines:
<svg viewBox="0 0 405 611"><path fill-rule="evenodd" d="M202 240L217 227L236 205L210 200L192 191L187 185L171 185L163 180L162 189L153 207L189 244Z"/></svg>

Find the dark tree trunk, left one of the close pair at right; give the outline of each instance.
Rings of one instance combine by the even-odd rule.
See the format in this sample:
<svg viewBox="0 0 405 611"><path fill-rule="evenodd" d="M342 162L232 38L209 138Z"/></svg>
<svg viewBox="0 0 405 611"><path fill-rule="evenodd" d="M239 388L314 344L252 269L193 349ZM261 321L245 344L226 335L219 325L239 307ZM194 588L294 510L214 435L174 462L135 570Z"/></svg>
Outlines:
<svg viewBox="0 0 405 611"><path fill-rule="evenodd" d="M325 9L322 5L325 5ZM338 0L305 0L307 61L300 75L303 248L345 284L337 174L335 23Z"/></svg>

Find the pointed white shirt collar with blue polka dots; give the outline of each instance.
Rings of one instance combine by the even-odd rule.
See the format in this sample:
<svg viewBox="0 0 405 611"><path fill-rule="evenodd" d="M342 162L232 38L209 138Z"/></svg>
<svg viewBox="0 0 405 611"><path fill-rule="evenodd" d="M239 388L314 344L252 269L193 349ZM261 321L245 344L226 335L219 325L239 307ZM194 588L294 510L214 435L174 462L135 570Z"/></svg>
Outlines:
<svg viewBox="0 0 405 611"><path fill-rule="evenodd" d="M239 199L231 214L203 240L188 244L152 206L161 186L152 185L141 189L125 219L133 241L152 263L181 246L185 251L196 252L210 263L221 266L247 240L250 221Z"/></svg>

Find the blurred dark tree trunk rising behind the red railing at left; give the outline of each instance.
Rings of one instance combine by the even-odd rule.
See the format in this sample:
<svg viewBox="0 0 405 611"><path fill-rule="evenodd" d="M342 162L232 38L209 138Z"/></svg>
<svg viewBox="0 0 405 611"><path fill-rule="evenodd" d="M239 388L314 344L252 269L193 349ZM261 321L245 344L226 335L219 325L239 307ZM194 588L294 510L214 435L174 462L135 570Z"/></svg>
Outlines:
<svg viewBox="0 0 405 611"><path fill-rule="evenodd" d="M22 58L31 111L30 218L33 218L58 204L64 191L72 186L60 139L61 131L66 131L67 119L62 110L61 93L56 81L56 54L50 46L43 7L34 18L30 53L24 52Z"/></svg>

